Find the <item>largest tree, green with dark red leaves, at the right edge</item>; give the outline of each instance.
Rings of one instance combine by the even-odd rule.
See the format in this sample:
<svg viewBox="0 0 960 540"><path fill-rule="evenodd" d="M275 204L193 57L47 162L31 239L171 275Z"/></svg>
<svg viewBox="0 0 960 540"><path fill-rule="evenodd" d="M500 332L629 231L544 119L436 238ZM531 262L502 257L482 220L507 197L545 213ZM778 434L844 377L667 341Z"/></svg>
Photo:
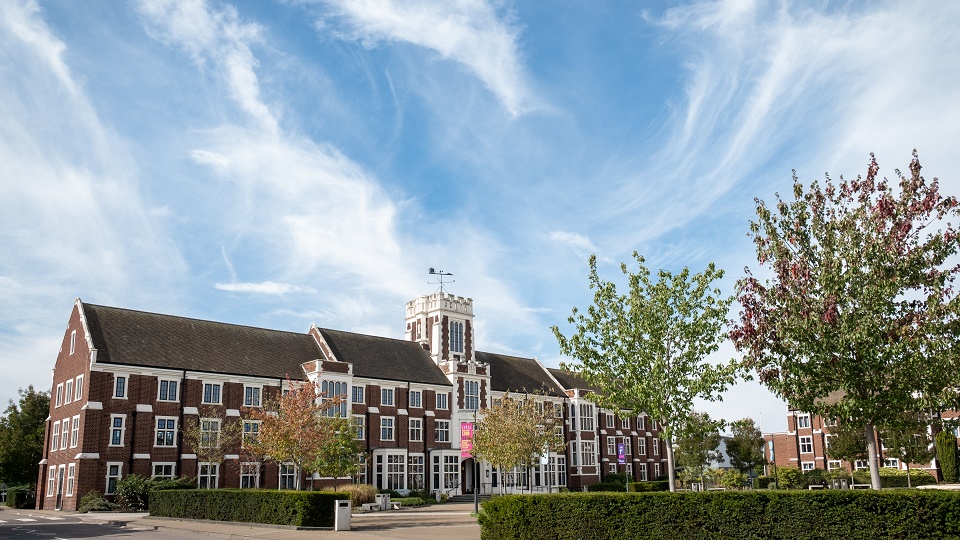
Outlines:
<svg viewBox="0 0 960 540"><path fill-rule="evenodd" d="M948 221L960 214L957 200L920 176L916 152L899 182L879 180L878 171L871 156L866 179L827 177L807 189L794 174L792 201L777 195L768 208L756 200L750 236L771 277L748 269L738 282L743 309L730 333L774 393L864 433L916 399L923 409L951 408L960 384L960 239ZM867 452L879 489L873 437Z"/></svg>

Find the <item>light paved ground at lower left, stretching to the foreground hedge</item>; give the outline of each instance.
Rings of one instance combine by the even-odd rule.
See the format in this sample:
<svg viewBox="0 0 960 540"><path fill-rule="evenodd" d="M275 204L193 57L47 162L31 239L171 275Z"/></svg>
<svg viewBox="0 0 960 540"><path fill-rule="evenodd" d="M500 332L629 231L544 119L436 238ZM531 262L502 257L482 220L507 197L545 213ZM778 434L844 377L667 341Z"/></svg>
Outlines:
<svg viewBox="0 0 960 540"><path fill-rule="evenodd" d="M0 507L0 519L12 516L56 518L69 516L84 522L124 527L130 531L162 530L212 538L352 539L384 538L399 540L479 540L480 525L472 516L473 503L446 503L422 508L403 508L351 516L351 530L301 529L281 525L261 525L221 521L181 520L151 517L147 513L96 512L78 514L53 510L15 510Z"/></svg>

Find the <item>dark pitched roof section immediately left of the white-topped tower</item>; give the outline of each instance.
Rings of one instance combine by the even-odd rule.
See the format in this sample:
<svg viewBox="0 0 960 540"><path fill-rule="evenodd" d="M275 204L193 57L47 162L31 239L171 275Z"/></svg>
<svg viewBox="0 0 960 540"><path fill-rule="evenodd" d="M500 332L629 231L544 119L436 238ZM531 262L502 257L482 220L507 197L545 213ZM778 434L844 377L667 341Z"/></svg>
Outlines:
<svg viewBox="0 0 960 540"><path fill-rule="evenodd" d="M317 328L337 360L353 363L355 377L451 386L430 353L413 341Z"/></svg>

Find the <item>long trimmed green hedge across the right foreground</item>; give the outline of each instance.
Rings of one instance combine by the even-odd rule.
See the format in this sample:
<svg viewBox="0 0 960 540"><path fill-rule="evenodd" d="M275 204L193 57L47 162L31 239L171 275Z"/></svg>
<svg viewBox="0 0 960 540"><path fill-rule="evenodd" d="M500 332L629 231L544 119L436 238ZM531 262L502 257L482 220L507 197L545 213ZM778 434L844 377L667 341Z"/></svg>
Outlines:
<svg viewBox="0 0 960 540"><path fill-rule="evenodd" d="M504 495L483 504L484 540L960 538L960 493L727 491Z"/></svg>

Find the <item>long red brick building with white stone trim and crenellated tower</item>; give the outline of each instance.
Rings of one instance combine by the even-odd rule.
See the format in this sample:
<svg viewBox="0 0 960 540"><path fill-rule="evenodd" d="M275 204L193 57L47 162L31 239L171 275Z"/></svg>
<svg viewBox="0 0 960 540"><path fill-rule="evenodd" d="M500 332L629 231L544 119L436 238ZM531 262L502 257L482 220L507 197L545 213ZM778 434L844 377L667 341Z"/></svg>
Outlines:
<svg viewBox="0 0 960 540"><path fill-rule="evenodd" d="M600 410L582 381L536 359L474 350L473 301L444 293L406 306L405 339L312 327L284 332L76 301L53 370L37 507L75 509L129 475L197 478L202 487L292 487L291 465L225 448L203 462L187 427L218 437L291 380L313 380L357 428L365 467L353 481L447 494L581 489L610 472L665 472L655 422ZM533 471L461 458L460 425L505 393L538 391L564 417L566 451ZM619 445L627 459L618 463ZM333 479L313 478L316 485ZM341 483L343 480L340 481Z"/></svg>

